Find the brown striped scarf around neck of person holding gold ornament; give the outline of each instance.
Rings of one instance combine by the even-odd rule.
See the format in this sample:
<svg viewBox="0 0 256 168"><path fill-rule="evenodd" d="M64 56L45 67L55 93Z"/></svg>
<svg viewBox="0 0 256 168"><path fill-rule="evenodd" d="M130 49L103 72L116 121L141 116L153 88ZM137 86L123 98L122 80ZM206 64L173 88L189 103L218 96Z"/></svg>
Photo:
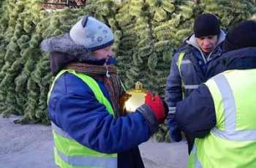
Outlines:
<svg viewBox="0 0 256 168"><path fill-rule="evenodd" d="M108 69L107 69L108 68ZM92 77L94 80L104 81L105 86L110 95L113 111L115 117L118 117L120 114L118 112L118 99L123 89L120 85L120 80L117 75L117 69L114 66L98 66L84 63L70 63L67 64L65 69L74 69L76 72L83 73ZM110 77L107 77L107 70Z"/></svg>

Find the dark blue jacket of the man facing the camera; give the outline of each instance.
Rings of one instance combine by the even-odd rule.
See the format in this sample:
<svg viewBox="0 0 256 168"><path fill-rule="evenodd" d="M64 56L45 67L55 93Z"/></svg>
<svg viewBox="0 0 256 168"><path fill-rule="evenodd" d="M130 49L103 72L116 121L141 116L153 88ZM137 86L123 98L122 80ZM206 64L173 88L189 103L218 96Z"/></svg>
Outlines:
<svg viewBox="0 0 256 168"><path fill-rule="evenodd" d="M219 57L222 55L222 42L225 39L224 31L219 35L217 47L206 58L195 36L189 37L173 56L170 65L170 75L167 77L167 86L165 88L165 102L170 108L169 112L174 113L176 102L182 100L181 75L184 81L184 97L189 96L195 88L205 81L205 77L214 76L211 69L219 63ZM178 57L185 52L181 62L181 75L178 71ZM217 70L216 70L217 71ZM214 72L216 72L214 71Z"/></svg>

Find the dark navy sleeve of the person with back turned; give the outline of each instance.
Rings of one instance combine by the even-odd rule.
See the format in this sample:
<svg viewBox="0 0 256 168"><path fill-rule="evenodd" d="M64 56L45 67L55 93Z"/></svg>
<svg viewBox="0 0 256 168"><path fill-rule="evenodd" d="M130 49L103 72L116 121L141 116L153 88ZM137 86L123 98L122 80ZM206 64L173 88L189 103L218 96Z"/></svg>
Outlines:
<svg viewBox="0 0 256 168"><path fill-rule="evenodd" d="M179 128L192 137L205 137L216 126L214 100L208 87L201 84L186 99L177 103Z"/></svg>

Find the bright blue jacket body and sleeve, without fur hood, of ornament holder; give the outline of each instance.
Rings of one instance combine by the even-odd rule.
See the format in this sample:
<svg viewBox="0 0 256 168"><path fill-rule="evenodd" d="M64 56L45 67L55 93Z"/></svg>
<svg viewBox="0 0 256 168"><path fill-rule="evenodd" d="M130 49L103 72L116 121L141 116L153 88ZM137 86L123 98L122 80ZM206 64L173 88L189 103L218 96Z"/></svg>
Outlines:
<svg viewBox="0 0 256 168"><path fill-rule="evenodd" d="M97 83L110 102L104 83ZM80 144L101 153L118 153L118 167L143 167L137 146L154 133L147 119L156 120L153 113L146 113L147 118L141 112L113 118L91 88L69 73L56 81L48 112L50 120Z"/></svg>

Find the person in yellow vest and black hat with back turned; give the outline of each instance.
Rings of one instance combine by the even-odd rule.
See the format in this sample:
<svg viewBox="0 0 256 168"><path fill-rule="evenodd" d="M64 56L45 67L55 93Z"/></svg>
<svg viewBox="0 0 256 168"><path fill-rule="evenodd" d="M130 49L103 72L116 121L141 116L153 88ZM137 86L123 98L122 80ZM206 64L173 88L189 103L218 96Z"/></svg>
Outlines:
<svg viewBox="0 0 256 168"><path fill-rule="evenodd" d="M179 128L195 136L187 167L256 167L256 22L235 26L212 77L177 103Z"/></svg>

